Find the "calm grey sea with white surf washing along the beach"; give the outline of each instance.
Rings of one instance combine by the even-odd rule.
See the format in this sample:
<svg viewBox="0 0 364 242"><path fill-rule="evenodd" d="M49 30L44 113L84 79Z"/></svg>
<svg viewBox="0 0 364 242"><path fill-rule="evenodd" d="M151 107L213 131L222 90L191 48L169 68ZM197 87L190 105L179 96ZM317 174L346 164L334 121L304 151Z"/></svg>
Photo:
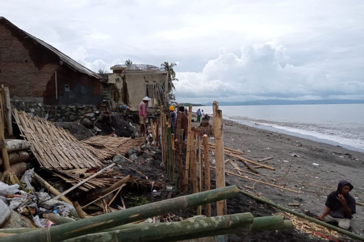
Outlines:
<svg viewBox="0 0 364 242"><path fill-rule="evenodd" d="M193 107L212 114L212 106ZM364 104L220 106L223 118L364 152Z"/></svg>

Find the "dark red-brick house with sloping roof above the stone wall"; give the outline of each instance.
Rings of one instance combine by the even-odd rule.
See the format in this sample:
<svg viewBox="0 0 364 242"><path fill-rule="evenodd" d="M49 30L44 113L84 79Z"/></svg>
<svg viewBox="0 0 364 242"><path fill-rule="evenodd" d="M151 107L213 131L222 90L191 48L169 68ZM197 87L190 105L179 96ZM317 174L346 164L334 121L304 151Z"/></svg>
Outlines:
<svg viewBox="0 0 364 242"><path fill-rule="evenodd" d="M0 84L10 98L58 104L103 99L106 79L0 17Z"/></svg>

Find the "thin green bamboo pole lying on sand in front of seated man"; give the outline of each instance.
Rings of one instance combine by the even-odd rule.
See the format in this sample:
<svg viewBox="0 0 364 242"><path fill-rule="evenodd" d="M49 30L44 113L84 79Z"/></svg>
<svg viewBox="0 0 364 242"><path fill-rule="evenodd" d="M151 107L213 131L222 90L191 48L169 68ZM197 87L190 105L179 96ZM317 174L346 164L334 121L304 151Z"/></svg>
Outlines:
<svg viewBox="0 0 364 242"><path fill-rule="evenodd" d="M293 215L295 215L295 216L297 216L297 217L303 218L303 219L308 220L308 221L310 221L310 222L317 223L317 224L319 224L319 225L321 225L321 226L324 226L324 227L327 227L327 228L329 228L329 229L335 230L335 231L337 231L337 232L339 232L339 233L341 233L341 234L348 235L348 236L349 236L349 237L351 237L351 238L355 238L355 239L359 239L360 241L364 241L364 237L363 237L363 236L361 236L361 235L359 235L359 234L355 234L355 233L349 232L349 231L347 231L347 230L345 230L345 229L341 229L341 228L339 228L339 227L336 227L336 226L333 226L333 225L331 225L331 224L325 223L325 222L323 222L323 221L317 220L317 219L315 219L315 218L311 218L311 217L309 217L309 216L307 216L307 215L305 215L305 214L303 214L303 213L298 213L298 212L296 212L296 211L294 211L294 210L291 210L291 209L285 208L285 207L283 207L283 206L281 206L281 205L275 204L274 202L268 201L268 200L266 200L266 199L264 199L264 198L254 196L253 194L250 194L250 193L245 192L245 191L243 191L243 190L240 190L240 189L239 189L239 192L240 192L241 194L244 194L245 196L251 197L251 198L253 198L253 199L257 200L257 201L260 201L260 202L262 202L262 203L268 204L268 205L270 205L270 206L272 206L272 207L274 207L274 208L277 208L277 209L283 210L283 211L285 211L285 212L287 212L287 213L293 214Z"/></svg>

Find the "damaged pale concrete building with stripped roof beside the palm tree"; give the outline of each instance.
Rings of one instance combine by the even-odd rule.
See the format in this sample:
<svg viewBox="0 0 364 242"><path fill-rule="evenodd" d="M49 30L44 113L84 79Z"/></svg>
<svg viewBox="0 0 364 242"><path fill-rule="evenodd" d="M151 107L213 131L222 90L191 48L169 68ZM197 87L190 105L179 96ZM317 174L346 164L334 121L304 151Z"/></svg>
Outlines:
<svg viewBox="0 0 364 242"><path fill-rule="evenodd" d="M165 82L167 71L152 65L115 65L110 68L108 83L115 84L112 91L112 106L125 104L131 110L138 110L145 96L152 99L149 107L159 107L164 102L161 83Z"/></svg>

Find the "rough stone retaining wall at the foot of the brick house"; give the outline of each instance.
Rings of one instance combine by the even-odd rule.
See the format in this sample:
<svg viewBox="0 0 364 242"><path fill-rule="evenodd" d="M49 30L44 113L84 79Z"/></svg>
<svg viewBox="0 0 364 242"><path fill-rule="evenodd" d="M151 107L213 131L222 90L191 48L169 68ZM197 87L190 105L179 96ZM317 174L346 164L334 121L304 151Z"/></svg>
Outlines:
<svg viewBox="0 0 364 242"><path fill-rule="evenodd" d="M11 108L25 111L30 115L36 115L47 120L57 122L80 122L83 119L96 120L100 111L94 105L44 105L42 103L10 100Z"/></svg>

